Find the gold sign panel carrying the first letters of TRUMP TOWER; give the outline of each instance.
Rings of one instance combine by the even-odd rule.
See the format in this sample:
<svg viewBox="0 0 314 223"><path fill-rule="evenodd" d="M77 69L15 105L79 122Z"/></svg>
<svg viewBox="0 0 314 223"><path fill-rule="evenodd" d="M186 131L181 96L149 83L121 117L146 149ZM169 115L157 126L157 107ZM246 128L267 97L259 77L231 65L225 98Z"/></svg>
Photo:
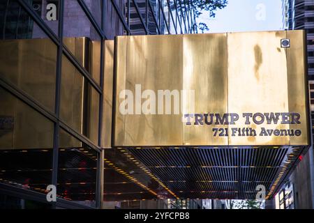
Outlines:
<svg viewBox="0 0 314 223"><path fill-rule="evenodd" d="M183 89L195 91L196 100L195 107L184 103L184 114L227 113L227 34L186 35L183 41ZM214 138L213 128L227 125L183 123L183 144L227 145L227 137Z"/></svg>

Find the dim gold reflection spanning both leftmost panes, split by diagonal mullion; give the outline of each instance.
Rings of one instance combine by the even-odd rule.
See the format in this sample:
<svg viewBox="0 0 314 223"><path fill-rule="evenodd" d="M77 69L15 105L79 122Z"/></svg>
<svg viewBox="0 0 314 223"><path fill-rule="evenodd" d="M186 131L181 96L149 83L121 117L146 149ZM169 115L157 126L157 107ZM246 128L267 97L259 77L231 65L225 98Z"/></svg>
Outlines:
<svg viewBox="0 0 314 223"><path fill-rule="evenodd" d="M57 45L50 39L1 40L0 79L54 112ZM53 123L0 88L0 149L52 148Z"/></svg>

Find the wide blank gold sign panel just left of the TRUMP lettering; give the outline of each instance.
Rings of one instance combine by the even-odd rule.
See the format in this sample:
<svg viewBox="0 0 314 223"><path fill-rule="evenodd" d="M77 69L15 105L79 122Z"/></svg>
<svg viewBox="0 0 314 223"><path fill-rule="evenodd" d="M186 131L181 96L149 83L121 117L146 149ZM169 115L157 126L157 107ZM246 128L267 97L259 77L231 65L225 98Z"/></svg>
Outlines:
<svg viewBox="0 0 314 223"><path fill-rule="evenodd" d="M182 89L182 38L130 36L126 39L126 89L135 92L135 84L141 84L142 92ZM136 94L134 100L135 97ZM126 116L124 146L182 143L181 115L136 114L136 109L135 106L135 115Z"/></svg>

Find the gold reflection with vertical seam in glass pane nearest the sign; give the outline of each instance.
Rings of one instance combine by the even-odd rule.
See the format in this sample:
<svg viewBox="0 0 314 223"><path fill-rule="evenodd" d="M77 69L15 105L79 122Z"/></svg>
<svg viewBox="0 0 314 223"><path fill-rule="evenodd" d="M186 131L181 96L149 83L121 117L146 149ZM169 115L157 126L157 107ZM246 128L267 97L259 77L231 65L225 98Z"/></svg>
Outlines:
<svg viewBox="0 0 314 223"><path fill-rule="evenodd" d="M97 145L99 93L65 56L62 61L60 117Z"/></svg>

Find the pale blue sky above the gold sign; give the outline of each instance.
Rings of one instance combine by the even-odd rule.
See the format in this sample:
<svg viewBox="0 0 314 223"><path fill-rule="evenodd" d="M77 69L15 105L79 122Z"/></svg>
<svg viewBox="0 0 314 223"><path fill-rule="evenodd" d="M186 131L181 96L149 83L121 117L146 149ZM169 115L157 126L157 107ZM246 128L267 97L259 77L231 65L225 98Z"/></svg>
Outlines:
<svg viewBox="0 0 314 223"><path fill-rule="evenodd" d="M216 11L216 17L203 12L197 22L207 24L206 33L281 30L281 0L228 0L225 8Z"/></svg>

